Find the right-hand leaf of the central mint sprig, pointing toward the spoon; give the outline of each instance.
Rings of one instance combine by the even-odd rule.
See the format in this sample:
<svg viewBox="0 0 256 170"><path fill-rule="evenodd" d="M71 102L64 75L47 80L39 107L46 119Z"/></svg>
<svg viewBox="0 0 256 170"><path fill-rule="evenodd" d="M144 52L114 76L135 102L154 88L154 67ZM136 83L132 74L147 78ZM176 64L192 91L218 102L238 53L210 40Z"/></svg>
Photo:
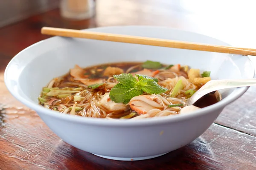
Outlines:
<svg viewBox="0 0 256 170"><path fill-rule="evenodd" d="M136 88L140 88L148 94L161 94L168 91L167 88L163 88L158 85L153 79L141 79L135 85Z"/></svg>

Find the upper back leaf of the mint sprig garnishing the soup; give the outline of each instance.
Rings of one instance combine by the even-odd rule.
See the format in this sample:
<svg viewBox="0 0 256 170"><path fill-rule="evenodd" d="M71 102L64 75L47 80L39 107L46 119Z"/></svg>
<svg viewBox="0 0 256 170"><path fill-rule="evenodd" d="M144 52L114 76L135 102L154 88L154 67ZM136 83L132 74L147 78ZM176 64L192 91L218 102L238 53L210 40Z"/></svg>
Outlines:
<svg viewBox="0 0 256 170"><path fill-rule="evenodd" d="M113 75L117 81L119 81L120 84L128 87L134 87L134 85L137 83L137 79L132 76L131 73L128 74L119 74L119 75Z"/></svg>

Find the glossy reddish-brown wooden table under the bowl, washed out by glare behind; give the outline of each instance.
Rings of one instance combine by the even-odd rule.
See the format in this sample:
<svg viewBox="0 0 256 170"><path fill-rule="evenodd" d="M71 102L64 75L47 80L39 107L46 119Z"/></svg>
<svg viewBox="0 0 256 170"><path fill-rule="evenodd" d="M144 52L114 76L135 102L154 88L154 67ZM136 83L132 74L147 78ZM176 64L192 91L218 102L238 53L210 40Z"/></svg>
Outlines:
<svg viewBox="0 0 256 170"><path fill-rule="evenodd" d="M194 142L155 159L114 161L63 142L40 117L7 91L6 65L22 49L48 36L43 26L90 28L153 25L180 28L256 48L255 0L97 0L96 17L68 21L54 9L0 28L0 170L256 169L256 88L228 105ZM253 59L253 58L252 58ZM253 60L254 61L254 60ZM256 63L256 62L255 62Z"/></svg>

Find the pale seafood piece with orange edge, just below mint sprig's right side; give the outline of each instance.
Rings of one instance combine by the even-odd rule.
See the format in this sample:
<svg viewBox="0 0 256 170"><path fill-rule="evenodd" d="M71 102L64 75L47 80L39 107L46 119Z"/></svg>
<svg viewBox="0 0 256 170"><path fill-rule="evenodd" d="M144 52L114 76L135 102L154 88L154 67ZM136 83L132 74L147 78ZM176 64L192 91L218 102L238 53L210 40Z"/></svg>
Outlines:
<svg viewBox="0 0 256 170"><path fill-rule="evenodd" d="M138 114L146 114L152 109L163 109L163 101L155 95L140 95L133 97L129 102L130 108Z"/></svg>

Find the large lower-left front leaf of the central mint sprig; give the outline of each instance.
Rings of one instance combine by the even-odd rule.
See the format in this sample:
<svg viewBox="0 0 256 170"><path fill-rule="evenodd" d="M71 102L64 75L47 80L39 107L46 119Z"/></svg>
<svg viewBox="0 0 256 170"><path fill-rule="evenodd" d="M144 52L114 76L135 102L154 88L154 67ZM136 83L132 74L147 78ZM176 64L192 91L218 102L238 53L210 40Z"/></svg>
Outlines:
<svg viewBox="0 0 256 170"><path fill-rule="evenodd" d="M122 84L116 84L110 91L109 97L113 102L127 104L131 98L143 94L143 90L127 88Z"/></svg>

